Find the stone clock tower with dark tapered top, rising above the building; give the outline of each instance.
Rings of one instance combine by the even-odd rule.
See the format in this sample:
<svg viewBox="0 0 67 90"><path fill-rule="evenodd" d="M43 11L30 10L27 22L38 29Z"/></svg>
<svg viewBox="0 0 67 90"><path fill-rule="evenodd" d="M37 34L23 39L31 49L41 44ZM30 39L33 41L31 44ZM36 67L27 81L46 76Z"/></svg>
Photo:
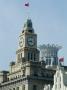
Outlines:
<svg viewBox="0 0 67 90"><path fill-rule="evenodd" d="M17 63L38 61L37 34L35 34L31 19L27 19L19 36L19 48L16 51Z"/></svg>

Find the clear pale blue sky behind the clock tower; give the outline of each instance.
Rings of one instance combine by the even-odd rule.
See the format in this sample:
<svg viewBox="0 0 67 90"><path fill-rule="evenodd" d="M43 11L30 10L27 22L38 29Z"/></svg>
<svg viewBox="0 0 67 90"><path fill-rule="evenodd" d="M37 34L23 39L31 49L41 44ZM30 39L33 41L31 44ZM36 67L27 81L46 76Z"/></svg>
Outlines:
<svg viewBox="0 0 67 90"><path fill-rule="evenodd" d="M26 2L29 8L24 6ZM62 46L58 56L67 65L67 0L0 0L0 70L7 70L16 60L18 37L28 16L38 45Z"/></svg>

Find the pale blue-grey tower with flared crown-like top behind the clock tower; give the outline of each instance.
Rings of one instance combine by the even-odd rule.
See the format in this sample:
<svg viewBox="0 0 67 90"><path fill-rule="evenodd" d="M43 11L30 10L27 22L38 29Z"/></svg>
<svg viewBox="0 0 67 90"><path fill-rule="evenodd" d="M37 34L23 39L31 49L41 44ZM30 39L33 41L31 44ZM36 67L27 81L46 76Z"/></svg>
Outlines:
<svg viewBox="0 0 67 90"><path fill-rule="evenodd" d="M61 49L58 45L40 45L40 57L45 61L47 68L56 68L58 65L58 51Z"/></svg>

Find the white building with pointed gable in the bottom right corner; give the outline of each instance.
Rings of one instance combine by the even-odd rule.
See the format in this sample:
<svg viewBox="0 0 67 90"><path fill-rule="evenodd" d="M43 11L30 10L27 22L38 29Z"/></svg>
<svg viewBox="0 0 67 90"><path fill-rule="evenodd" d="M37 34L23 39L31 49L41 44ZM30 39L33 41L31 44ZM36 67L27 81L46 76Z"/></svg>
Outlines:
<svg viewBox="0 0 67 90"><path fill-rule="evenodd" d="M52 90L67 90L67 66L57 67Z"/></svg>

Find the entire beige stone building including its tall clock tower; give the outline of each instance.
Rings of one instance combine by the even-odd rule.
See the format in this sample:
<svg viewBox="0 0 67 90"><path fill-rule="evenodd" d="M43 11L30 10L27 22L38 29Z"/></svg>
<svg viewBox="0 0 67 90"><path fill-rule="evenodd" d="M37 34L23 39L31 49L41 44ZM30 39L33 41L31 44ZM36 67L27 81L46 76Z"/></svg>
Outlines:
<svg viewBox="0 0 67 90"><path fill-rule="evenodd" d="M27 19L19 36L16 62L10 63L9 71L0 72L0 90L51 90L55 70L46 68L39 57L37 34L31 19ZM57 65L56 60L57 52Z"/></svg>

